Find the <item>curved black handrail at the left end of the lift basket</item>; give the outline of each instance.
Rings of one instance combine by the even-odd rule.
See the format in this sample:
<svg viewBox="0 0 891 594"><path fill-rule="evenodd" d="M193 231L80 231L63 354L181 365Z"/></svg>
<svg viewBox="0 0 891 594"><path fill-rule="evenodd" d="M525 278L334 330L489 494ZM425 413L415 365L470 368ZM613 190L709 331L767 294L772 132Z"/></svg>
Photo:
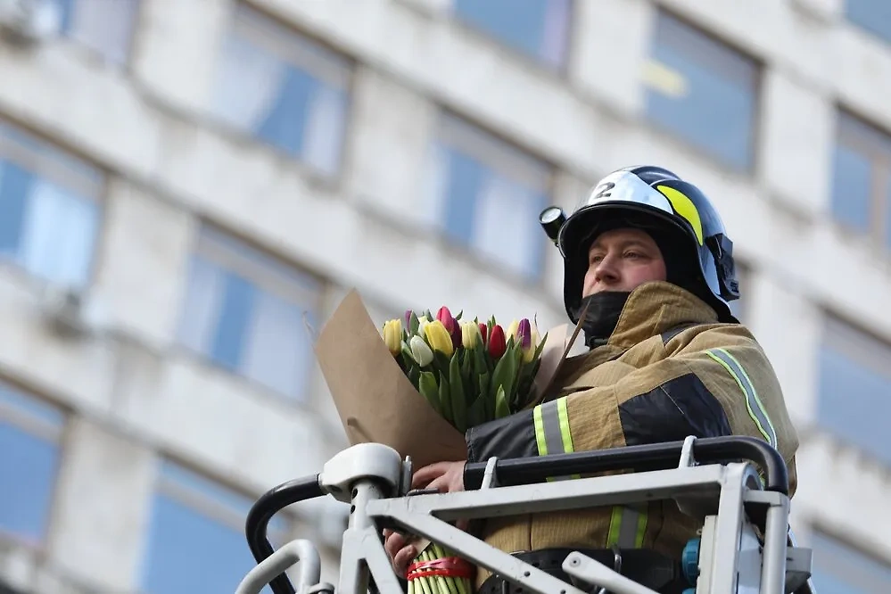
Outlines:
<svg viewBox="0 0 891 594"><path fill-rule="evenodd" d="M253 558L257 563L265 561L275 552L268 539L269 520L279 511L300 501L324 495L318 484L318 474L304 476L266 491L251 507L244 522L244 532ZM269 582L274 594L295 594L293 584L286 573L280 573Z"/></svg>

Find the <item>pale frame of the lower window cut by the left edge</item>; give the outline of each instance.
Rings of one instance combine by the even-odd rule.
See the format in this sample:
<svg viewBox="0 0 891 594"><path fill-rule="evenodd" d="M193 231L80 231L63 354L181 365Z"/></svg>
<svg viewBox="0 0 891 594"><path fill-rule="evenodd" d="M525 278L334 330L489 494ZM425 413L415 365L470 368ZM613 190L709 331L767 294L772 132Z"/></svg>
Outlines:
<svg viewBox="0 0 891 594"><path fill-rule="evenodd" d="M55 510L54 504L59 494L59 479L62 471L62 458L65 453L64 446L68 434L70 412L53 401L44 398L37 392L31 391L21 384L12 382L7 377L0 377L0 389L12 392L16 400L25 400L28 402L29 406L33 403L33 406L41 408L41 415L48 413L57 417L55 423L47 419L37 418L40 415L32 414L29 410L23 408L18 408L14 403L12 405L7 404L4 402L3 397L0 396L0 421L4 421L39 440L51 443L56 449L56 464L53 476L49 481L49 492L47 493L49 505L45 510L44 533L39 536L37 541L34 541L22 538L19 534L8 532L3 528L0 528L0 542L12 542L27 549L43 551L47 546L46 540L49 536L49 532L52 531Z"/></svg>

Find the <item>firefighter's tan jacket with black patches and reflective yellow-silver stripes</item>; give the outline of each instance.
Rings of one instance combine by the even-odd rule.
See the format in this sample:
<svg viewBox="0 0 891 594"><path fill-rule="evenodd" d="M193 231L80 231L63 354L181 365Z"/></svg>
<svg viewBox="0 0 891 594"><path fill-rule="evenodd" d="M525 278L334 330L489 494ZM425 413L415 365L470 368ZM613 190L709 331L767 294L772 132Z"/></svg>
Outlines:
<svg viewBox="0 0 891 594"><path fill-rule="evenodd" d="M567 359L546 401L469 430L467 459L523 458L687 435L771 442L796 488L798 440L780 384L745 326L676 285L639 286L605 345ZM481 538L507 552L552 547L656 549L680 558L696 522L671 501L486 520ZM481 568L477 585L489 573Z"/></svg>

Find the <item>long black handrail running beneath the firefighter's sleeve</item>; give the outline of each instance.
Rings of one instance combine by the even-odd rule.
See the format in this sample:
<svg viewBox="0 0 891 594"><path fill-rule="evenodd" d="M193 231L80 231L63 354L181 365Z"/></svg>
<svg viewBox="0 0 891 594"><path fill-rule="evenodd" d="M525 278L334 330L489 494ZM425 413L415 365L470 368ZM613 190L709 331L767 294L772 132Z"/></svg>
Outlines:
<svg viewBox="0 0 891 594"><path fill-rule="evenodd" d="M580 451L572 454L551 454L536 458L499 460L495 465L499 485L541 483L549 476L593 474L629 468L648 470L672 468L681 458L683 441L653 443L609 450ZM765 441L742 435L705 437L693 442L693 457L699 464L715 464L732 460L751 460L765 476L765 491L788 495L788 468L780 452ZM465 489L479 489L483 484L486 463L464 467Z"/></svg>

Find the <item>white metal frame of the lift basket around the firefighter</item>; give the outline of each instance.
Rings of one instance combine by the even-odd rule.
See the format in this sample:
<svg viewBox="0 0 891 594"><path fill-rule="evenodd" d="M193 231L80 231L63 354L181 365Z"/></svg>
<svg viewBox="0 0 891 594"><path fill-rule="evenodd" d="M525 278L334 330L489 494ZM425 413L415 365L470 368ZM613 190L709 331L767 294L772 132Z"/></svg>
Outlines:
<svg viewBox="0 0 891 594"><path fill-rule="evenodd" d="M394 450L380 444L344 450L318 477L322 491L351 503L337 590L365 594L373 581L381 594L404 592L381 536L383 527L391 527L439 543L527 591L584 594L450 522L673 499L684 513L704 521L696 594L813 594L813 588L799 589L810 575L810 551L788 547L788 496L763 491L755 466L748 463L696 466L691 445L684 448L680 466L670 470L502 487L491 484L497 482L497 475L487 472L486 484L477 491L395 498L388 498L387 493L400 492L406 463ZM749 521L757 510L765 517L761 538ZM255 567L236 594L258 594L298 559L303 564L299 594L334 592L330 584L319 583L315 548L306 541L292 545ZM577 580L614 594L657 594L579 552L566 557L563 569Z"/></svg>

